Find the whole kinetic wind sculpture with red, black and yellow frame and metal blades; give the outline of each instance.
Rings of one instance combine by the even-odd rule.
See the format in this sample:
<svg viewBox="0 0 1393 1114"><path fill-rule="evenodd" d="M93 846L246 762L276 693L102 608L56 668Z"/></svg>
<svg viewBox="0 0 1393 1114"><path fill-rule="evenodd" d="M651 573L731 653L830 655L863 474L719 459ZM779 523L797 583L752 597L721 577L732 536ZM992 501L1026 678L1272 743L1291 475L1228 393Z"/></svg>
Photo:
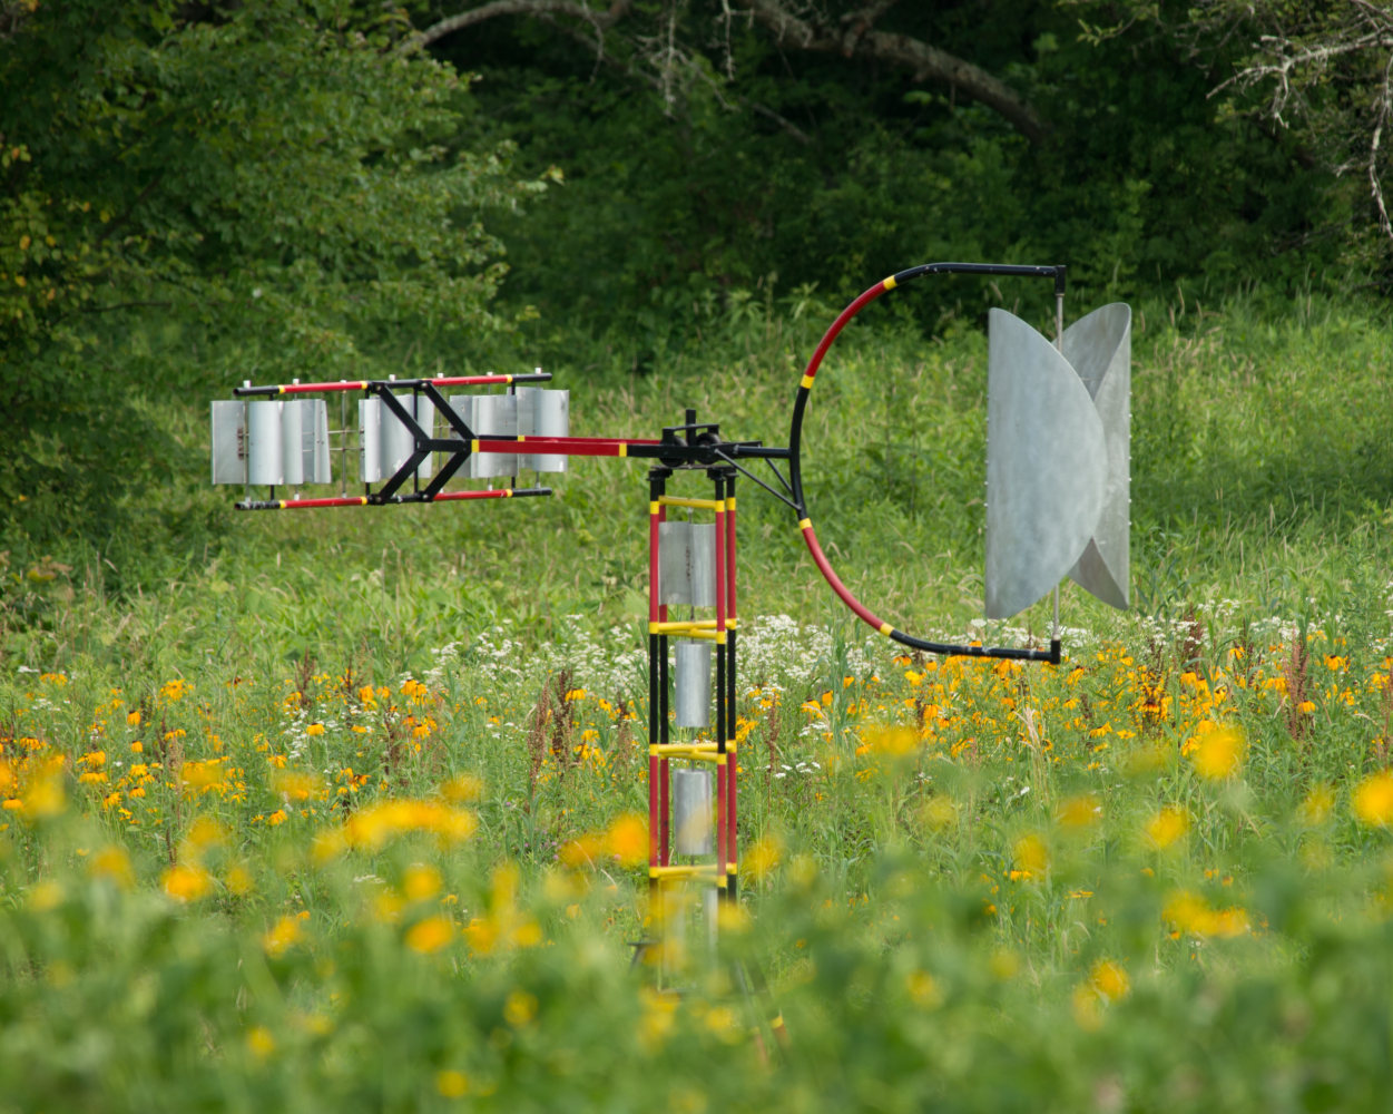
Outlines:
<svg viewBox="0 0 1393 1114"><path fill-rule="evenodd" d="M843 584L812 527L802 420L832 343L882 294L928 275L953 273L1055 283L1053 344L1020 318L990 311L986 439L986 615L1010 618L1055 588L1049 648L960 646L896 629ZM213 482L244 485L245 498L237 503L242 510L384 506L550 495L546 487L520 487L517 477L564 471L571 456L651 461L649 878L659 905L669 883L705 884L709 913L717 894L726 899L737 894L737 475L794 512L832 590L857 616L904 646L1057 664L1057 586L1064 576L1113 606L1127 606L1131 311L1105 305L1064 329L1063 266L925 264L876 283L841 311L808 361L787 448L727 441L717 425L698 422L691 410L659 438L570 436L570 393L524 386L549 379L539 369L529 375L244 383L233 400L213 403ZM506 393L443 393L481 386ZM361 396L352 427L351 393ZM329 397L334 396L338 428L330 429ZM334 457L338 495L301 496L304 485L333 482ZM350 457L362 494L348 494ZM773 482L741 463L752 460L768 464ZM780 460L787 461L787 477L779 471ZM712 498L669 495L667 482L678 471L705 471ZM493 485L504 478L506 485ZM446 489L461 480L488 485ZM254 487L269 487L269 498L252 499ZM290 488L291 496L276 498L279 487ZM669 519L670 510L684 512L685 520ZM710 514L712 521L694 521L695 512ZM678 608L687 619L673 616ZM709 616L696 618L698 608ZM683 738L674 740L674 731ZM709 923L715 926L715 916Z"/></svg>

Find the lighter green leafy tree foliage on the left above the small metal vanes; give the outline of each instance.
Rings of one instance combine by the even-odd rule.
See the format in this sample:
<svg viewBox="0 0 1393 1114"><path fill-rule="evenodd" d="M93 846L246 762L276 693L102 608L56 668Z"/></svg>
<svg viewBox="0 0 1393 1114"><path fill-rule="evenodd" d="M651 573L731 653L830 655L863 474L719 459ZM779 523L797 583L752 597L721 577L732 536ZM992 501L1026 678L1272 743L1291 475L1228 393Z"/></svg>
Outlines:
<svg viewBox="0 0 1393 1114"><path fill-rule="evenodd" d="M171 396L454 358L510 328L483 219L540 184L504 145L458 146L468 79L396 53L401 31L348 3L162 0L42 4L0 39L15 545L104 552L130 492L188 466L148 418Z"/></svg>

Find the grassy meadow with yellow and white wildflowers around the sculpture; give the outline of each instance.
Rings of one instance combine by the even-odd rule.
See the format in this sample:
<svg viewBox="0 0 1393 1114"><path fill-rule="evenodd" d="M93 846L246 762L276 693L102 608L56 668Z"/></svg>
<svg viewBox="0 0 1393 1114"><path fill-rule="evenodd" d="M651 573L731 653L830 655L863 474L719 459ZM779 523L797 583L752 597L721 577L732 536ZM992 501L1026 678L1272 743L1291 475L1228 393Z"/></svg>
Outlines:
<svg viewBox="0 0 1393 1114"><path fill-rule="evenodd" d="M573 431L783 443L809 298L556 368ZM905 629L1010 643L1049 605L974 618L983 367L848 333L809 502ZM1177 291L1133 411L1133 609L1066 588L1059 666L900 653L741 485L712 951L648 901L641 466L237 514L171 402L125 537L6 555L0 1110L1386 1110L1386 322Z"/></svg>

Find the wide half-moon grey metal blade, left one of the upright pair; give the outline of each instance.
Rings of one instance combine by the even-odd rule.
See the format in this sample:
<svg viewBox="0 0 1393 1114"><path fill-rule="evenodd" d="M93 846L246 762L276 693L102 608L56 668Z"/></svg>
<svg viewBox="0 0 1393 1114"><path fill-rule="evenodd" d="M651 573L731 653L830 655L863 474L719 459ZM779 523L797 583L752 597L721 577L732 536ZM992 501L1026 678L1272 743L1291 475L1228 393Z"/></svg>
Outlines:
<svg viewBox="0 0 1393 1114"><path fill-rule="evenodd" d="M986 615L1024 611L1082 556L1103 505L1103 422L1068 361L1014 314L988 315Z"/></svg>

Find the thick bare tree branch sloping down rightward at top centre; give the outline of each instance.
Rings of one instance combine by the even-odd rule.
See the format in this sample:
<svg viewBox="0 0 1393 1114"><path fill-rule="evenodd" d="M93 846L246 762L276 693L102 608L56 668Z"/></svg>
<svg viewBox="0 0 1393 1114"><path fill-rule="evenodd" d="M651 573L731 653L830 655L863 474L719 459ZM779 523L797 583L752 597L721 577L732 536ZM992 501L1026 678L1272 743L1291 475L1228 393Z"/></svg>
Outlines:
<svg viewBox="0 0 1393 1114"><path fill-rule="evenodd" d="M740 0L740 4L748 8L784 49L887 61L910 70L914 81L950 85L978 103L986 105L1032 144L1039 144L1049 134L1049 125L1028 100L981 67L922 39L876 31L872 22L890 7L889 3L871 3L854 13L846 31L815 26L786 8L781 0Z"/></svg>

